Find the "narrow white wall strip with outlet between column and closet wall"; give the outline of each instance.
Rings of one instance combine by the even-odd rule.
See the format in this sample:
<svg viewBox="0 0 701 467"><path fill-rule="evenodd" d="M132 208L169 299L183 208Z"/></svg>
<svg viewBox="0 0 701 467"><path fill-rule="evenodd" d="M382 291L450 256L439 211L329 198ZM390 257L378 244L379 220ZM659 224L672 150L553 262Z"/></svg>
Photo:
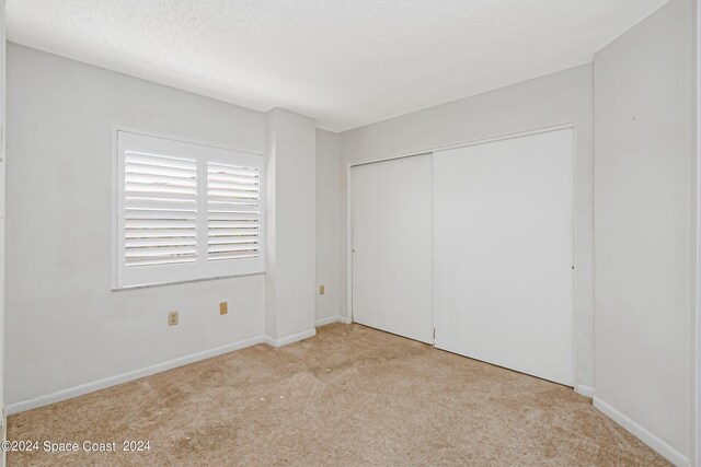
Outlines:
<svg viewBox="0 0 701 467"><path fill-rule="evenodd" d="M337 317L338 135L317 130L317 322ZM319 285L325 293L319 294Z"/></svg>

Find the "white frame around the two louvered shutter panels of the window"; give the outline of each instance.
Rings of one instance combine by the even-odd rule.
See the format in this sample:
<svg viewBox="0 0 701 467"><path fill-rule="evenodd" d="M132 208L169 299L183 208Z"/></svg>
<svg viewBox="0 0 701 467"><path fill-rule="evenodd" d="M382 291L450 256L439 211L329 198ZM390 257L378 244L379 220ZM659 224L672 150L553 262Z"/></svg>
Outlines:
<svg viewBox="0 0 701 467"><path fill-rule="evenodd" d="M265 273L265 156L263 154L183 141L160 135L115 128L112 201L112 290L136 289L172 283ZM125 266L125 160L127 151L196 161L197 165L197 254L194 262L151 266ZM208 162L245 165L260 172L257 207L241 206L242 211L258 212L258 256L256 258L208 259ZM237 210L239 207L237 207Z"/></svg>

